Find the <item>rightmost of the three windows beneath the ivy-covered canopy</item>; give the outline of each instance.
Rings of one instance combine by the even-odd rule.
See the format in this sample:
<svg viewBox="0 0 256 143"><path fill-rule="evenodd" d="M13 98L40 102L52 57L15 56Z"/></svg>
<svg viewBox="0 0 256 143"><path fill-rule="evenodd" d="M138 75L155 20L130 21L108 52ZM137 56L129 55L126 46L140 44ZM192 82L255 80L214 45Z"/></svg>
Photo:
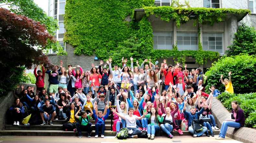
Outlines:
<svg viewBox="0 0 256 143"><path fill-rule="evenodd" d="M223 53L223 33L203 33L203 50Z"/></svg>

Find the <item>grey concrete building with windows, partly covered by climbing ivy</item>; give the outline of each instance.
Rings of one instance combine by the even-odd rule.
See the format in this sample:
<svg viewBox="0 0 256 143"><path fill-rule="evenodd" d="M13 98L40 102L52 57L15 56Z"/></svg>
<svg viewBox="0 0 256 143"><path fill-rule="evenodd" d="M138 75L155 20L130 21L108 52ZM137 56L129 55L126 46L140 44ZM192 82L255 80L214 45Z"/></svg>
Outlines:
<svg viewBox="0 0 256 143"><path fill-rule="evenodd" d="M155 0L155 4L158 6L170 5L171 2L171 0ZM202 43L203 50L205 51L216 51L219 52L220 55L224 55L225 51L227 50L227 46L231 45L232 38L234 33L236 33L240 22L245 22L250 26L256 27L255 0L188 0L188 2L191 7L236 8L251 10L250 15L227 14L227 19L225 21L223 20L222 22L214 23L214 25L201 24L200 42ZM180 0L179 3L185 4L185 0ZM59 20L60 29L57 30L55 36L63 46L63 36L65 32L63 19L64 5L65 0L49 0L49 14ZM134 12L134 17L137 21L139 21L142 16L145 15L143 9L135 9ZM193 26L193 21L189 21L186 24L181 24L180 27L177 28L174 21L167 23L155 15L149 15L148 20L150 21L153 29L154 49L171 50L173 45L177 42L178 50L198 50L198 27ZM69 44L66 44L64 49L68 52L68 55L65 57L66 61L63 62L75 65L77 60L73 61L72 59L76 59L78 56L73 53L74 48ZM54 57L54 55L49 55L49 58L52 59L53 63L59 63L59 61L56 61L59 58ZM87 61L86 63L98 63L98 61L94 60L93 56L87 59L91 60ZM158 59L158 61L162 61L162 59ZM168 64L174 64L172 58L169 58L168 61L170 61ZM196 68L200 66L204 69L211 67L212 63L212 61L209 61L206 65L199 65L192 57L187 57L186 62L190 68ZM86 63L80 66L86 67ZM64 64L64 66L67 65Z"/></svg>

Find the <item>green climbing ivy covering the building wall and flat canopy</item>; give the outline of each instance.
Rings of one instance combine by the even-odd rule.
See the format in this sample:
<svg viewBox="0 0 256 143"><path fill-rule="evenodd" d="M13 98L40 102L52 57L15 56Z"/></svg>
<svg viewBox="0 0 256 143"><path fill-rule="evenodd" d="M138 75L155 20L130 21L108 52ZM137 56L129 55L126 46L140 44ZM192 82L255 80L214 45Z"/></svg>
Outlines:
<svg viewBox="0 0 256 143"><path fill-rule="evenodd" d="M143 8L145 16L139 22L134 21L134 9ZM213 24L225 19L226 13L249 13L244 9L181 8L154 5L154 0L102 1L66 0L64 41L71 44L77 55L97 55L101 59L113 58L120 62L122 57L134 57L142 62L145 58L152 61L158 58L173 57L175 61L185 62L186 56L192 56L196 62L207 63L207 59L219 58L218 52L203 51L198 27L198 51L178 51L153 49L153 30L147 17L155 14L163 21L171 20L184 24L194 20L193 25ZM196 15L189 17L189 15Z"/></svg>

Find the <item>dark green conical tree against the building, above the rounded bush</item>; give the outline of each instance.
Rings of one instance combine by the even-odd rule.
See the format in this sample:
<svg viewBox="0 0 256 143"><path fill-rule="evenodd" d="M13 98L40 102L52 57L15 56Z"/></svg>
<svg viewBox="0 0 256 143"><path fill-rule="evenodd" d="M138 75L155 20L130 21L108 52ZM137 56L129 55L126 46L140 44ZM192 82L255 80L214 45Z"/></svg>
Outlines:
<svg viewBox="0 0 256 143"><path fill-rule="evenodd" d="M233 38L232 45L228 46L226 51L228 56L238 55L240 53L248 53L249 55L256 52L256 30L254 27L247 26L245 23L241 24L235 37Z"/></svg>

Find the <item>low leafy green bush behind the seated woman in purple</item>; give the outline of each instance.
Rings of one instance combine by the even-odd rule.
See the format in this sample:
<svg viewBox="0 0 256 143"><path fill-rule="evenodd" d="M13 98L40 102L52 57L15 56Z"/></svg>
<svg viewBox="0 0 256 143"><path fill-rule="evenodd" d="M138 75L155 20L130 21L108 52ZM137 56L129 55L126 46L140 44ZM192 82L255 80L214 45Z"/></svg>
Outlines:
<svg viewBox="0 0 256 143"><path fill-rule="evenodd" d="M224 107L226 107L229 111L232 110L231 101L237 100L240 108L244 111L245 126L256 127L256 92L246 94L232 94L223 92L217 96L217 99L219 99Z"/></svg>

